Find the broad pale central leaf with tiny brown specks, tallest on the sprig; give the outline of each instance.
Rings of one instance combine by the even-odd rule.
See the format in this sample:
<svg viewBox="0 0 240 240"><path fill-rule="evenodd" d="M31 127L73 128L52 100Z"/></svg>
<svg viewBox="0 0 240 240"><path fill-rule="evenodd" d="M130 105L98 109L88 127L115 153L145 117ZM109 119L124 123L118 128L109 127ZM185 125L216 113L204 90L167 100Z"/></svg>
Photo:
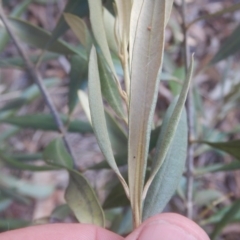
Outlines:
<svg viewBox="0 0 240 240"><path fill-rule="evenodd" d="M141 4L141 2L143 2ZM129 188L135 226L141 221L142 190L145 179L153 113L156 106L166 23L166 0L134 1L139 4L132 45L129 107ZM131 20L132 21L132 20ZM131 38L131 37L130 37ZM131 43L130 43L131 47ZM131 49L130 49L131 54ZM131 59L131 55L130 55ZM137 222L136 222L137 221Z"/></svg>

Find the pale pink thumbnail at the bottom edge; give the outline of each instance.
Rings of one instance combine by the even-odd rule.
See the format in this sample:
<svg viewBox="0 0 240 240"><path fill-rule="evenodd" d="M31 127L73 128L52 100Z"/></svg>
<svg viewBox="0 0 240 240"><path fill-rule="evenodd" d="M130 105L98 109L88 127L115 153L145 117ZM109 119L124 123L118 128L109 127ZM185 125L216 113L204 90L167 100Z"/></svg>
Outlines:
<svg viewBox="0 0 240 240"><path fill-rule="evenodd" d="M186 232L180 226L167 221L156 221L147 224L138 240L197 240L191 233Z"/></svg>

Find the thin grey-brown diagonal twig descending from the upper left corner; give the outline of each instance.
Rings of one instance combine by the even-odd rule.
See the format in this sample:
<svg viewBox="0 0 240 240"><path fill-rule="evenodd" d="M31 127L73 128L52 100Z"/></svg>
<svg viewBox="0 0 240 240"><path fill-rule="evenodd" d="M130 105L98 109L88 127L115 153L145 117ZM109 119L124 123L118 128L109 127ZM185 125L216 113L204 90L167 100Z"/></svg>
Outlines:
<svg viewBox="0 0 240 240"><path fill-rule="evenodd" d="M1 3L1 2L0 2ZM73 159L73 165L76 168L76 161L75 161L75 157L73 154L73 151L71 149L71 146L67 140L67 137L65 135L66 131L65 131L65 127L63 125L63 122L57 112L57 109L55 108L53 101L51 99L51 97L49 96L44 84L43 84L43 80L41 78L40 73L35 69L34 65L32 64L32 62L30 61L30 59L28 58L28 56L26 55L25 51L23 50L22 46L20 45L17 37L14 35L11 26L8 23L8 20L3 12L2 6L0 4L0 19L2 20L4 26L6 27L7 32L9 33L10 37L12 38L19 54L21 55L21 57L23 58L25 64L26 64L26 69L29 73L29 75L31 76L31 78L33 79L33 81L37 84L37 86L39 87L39 90L47 104L47 106L49 107L51 114L54 118L54 121L57 125L58 131L62 134L63 137L63 141L64 144L68 150L68 152L70 153L70 155L72 156Z"/></svg>

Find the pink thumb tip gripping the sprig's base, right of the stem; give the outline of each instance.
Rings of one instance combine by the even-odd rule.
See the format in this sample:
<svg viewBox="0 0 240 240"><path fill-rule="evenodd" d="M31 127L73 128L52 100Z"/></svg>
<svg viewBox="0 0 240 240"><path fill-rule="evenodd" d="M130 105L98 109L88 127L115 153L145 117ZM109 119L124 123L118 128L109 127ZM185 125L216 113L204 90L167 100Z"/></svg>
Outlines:
<svg viewBox="0 0 240 240"><path fill-rule="evenodd" d="M196 223L175 213L163 213L145 221L125 240L210 240Z"/></svg>

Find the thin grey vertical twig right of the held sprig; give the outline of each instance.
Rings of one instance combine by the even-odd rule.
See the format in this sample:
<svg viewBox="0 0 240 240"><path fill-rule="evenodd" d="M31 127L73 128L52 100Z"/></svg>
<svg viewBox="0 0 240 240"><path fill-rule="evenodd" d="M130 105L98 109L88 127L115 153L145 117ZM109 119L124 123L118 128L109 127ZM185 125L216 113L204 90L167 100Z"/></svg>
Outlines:
<svg viewBox="0 0 240 240"><path fill-rule="evenodd" d="M188 33L186 28L186 3L185 0L182 0L182 28L184 34L184 60L185 60L185 72L187 74L188 66L189 66L189 47L188 47ZM193 89L190 87L189 94L187 98L187 117L188 117L188 155L187 155L187 217L193 218L193 171L194 171L194 145L192 144L192 140L194 139L194 108L193 108Z"/></svg>

